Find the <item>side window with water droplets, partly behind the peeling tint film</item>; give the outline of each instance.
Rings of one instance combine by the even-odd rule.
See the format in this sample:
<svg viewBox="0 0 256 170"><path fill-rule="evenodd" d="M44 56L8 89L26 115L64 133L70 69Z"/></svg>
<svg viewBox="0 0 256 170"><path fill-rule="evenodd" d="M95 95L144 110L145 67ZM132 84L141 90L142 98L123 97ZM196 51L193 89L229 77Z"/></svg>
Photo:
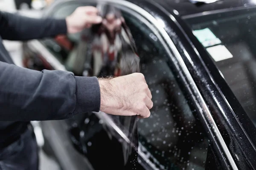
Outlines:
<svg viewBox="0 0 256 170"><path fill-rule="evenodd" d="M63 18L71 14L77 5L63 7L53 13ZM140 57L141 72L152 92L154 107L148 119L138 121L141 151L157 169L204 170L209 139L201 123L195 118L197 111L191 108L191 99L180 88L179 76L172 72L170 56L145 23L123 11L125 22L131 30ZM83 64L72 61L76 56L76 45L81 42L81 34L46 39L42 42L66 66ZM68 41L66 41L66 39ZM62 43L60 45L59 42ZM81 61L81 60L80 60ZM73 63L73 64L69 64Z"/></svg>

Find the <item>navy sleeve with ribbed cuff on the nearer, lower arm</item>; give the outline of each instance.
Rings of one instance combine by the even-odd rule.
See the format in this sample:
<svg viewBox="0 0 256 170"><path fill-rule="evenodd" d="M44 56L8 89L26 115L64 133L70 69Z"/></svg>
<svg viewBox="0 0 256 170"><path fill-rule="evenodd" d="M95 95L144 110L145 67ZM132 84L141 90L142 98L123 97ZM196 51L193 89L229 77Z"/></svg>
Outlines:
<svg viewBox="0 0 256 170"><path fill-rule="evenodd" d="M67 119L98 112L96 77L76 77L67 71L34 71L0 62L0 120Z"/></svg>

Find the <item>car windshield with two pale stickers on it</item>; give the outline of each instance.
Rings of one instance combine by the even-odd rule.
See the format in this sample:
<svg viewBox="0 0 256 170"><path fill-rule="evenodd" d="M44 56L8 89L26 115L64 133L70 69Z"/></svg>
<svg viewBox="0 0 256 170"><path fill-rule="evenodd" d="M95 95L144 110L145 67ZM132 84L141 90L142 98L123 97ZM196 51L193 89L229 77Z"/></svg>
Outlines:
<svg viewBox="0 0 256 170"><path fill-rule="evenodd" d="M256 125L256 9L186 20Z"/></svg>

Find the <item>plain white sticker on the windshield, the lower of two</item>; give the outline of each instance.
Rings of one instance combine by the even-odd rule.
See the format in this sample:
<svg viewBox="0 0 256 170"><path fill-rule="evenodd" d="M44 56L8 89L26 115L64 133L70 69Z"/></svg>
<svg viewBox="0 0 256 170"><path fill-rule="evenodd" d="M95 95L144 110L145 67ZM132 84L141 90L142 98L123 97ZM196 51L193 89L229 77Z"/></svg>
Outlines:
<svg viewBox="0 0 256 170"><path fill-rule="evenodd" d="M216 45L213 47L207 48L208 53L212 56L215 62L232 58L233 55L228 51L224 45Z"/></svg>

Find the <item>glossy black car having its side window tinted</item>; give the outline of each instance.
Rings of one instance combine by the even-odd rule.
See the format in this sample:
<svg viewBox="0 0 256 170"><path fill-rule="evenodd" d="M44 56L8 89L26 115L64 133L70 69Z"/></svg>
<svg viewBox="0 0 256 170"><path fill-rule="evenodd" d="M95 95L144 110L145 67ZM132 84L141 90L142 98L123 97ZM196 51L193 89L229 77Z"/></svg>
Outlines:
<svg viewBox="0 0 256 170"><path fill-rule="evenodd" d="M137 122L138 149L123 128L127 124L103 113L41 122L45 150L64 170L122 169L128 163L137 170L256 169L256 2L99 2L122 11L153 95L151 116ZM67 17L87 5L97 2L57 0L44 17ZM24 43L24 66L82 76L83 62L69 64L76 49L63 43L81 45L79 37ZM138 161L130 157L137 158L137 150Z"/></svg>

